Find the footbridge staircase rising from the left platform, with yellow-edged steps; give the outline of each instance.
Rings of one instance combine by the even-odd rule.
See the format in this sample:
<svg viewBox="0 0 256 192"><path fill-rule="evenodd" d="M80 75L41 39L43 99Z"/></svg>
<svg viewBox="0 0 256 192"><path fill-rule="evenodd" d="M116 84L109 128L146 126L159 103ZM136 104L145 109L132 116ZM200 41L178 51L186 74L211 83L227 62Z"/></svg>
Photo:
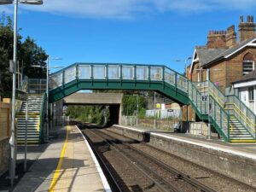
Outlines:
<svg viewBox="0 0 256 192"><path fill-rule="evenodd" d="M27 102L21 103L19 113L16 114L17 143L24 144L26 138L28 144L43 143L46 79L25 79L21 90L27 92Z"/></svg>

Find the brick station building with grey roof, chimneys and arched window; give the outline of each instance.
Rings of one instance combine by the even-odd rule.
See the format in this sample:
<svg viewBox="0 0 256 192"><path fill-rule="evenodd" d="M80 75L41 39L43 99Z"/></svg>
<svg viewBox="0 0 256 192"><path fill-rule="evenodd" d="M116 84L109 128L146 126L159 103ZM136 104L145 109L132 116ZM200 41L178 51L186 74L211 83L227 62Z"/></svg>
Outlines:
<svg viewBox="0 0 256 192"><path fill-rule="evenodd" d="M239 41L234 25L226 31L209 31L207 45L195 47L192 63L187 68L188 78L194 82L209 78L224 91L232 82L252 72L256 61L255 26L253 16L247 16L246 21L241 16Z"/></svg>

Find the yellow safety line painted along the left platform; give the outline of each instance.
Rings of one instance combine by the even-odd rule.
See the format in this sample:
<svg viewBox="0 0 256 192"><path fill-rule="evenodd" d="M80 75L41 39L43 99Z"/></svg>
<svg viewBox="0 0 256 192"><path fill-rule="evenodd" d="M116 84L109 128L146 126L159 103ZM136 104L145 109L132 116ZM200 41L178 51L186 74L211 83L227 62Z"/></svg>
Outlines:
<svg viewBox="0 0 256 192"><path fill-rule="evenodd" d="M56 185L56 183L58 181L58 178L60 176L61 166L62 166L62 162L63 162L63 159L64 159L64 154L65 154L66 148L67 148L68 130L69 130L69 126L67 126L67 130L66 130L67 133L66 133L65 143L64 143L63 148L61 150L60 160L59 160L58 166L55 170L54 177L52 178L52 181L51 181L50 186L49 186L49 192L54 192L55 191L55 185Z"/></svg>

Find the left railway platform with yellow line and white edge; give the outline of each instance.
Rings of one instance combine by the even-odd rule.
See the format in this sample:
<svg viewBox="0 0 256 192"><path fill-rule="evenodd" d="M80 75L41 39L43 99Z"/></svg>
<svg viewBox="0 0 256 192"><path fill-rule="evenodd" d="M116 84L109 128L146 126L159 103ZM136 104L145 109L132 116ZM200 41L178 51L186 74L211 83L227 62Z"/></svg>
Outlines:
<svg viewBox="0 0 256 192"><path fill-rule="evenodd" d="M14 191L109 192L111 189L84 135L70 125L58 131Z"/></svg>

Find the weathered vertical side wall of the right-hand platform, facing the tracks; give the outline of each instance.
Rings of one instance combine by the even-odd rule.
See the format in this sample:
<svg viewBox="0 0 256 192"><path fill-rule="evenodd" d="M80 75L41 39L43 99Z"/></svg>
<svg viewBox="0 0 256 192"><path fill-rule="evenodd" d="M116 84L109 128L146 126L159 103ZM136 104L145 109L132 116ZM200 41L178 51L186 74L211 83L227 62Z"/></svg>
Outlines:
<svg viewBox="0 0 256 192"><path fill-rule="evenodd" d="M127 137L145 141L155 148L165 150L170 154L177 155L197 165L206 167L214 172L219 172L233 177L242 183L256 187L256 160L238 154L231 154L223 150L207 148L200 144L179 141L177 138L169 138L153 132L138 131L136 129L125 129L113 127L112 131Z"/></svg>

